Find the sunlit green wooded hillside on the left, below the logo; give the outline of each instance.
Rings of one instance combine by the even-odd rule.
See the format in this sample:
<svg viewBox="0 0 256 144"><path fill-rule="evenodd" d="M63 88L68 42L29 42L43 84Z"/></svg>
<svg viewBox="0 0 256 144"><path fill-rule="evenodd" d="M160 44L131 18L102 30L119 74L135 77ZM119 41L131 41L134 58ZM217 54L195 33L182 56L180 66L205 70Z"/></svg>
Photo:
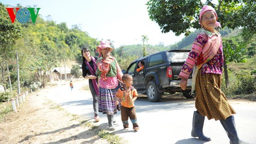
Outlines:
<svg viewBox="0 0 256 144"><path fill-rule="evenodd" d="M9 65L14 91L18 87L17 52L21 87L35 82L45 86L51 68L61 66L65 59L82 61L81 48L86 46L94 51L99 44L97 39L89 37L78 25L68 29L65 22L56 24L52 20L45 21L41 15L38 15L35 23L29 21L21 24L17 20L11 23L2 3L0 10L0 83L7 89L10 86L7 83L6 63Z"/></svg>

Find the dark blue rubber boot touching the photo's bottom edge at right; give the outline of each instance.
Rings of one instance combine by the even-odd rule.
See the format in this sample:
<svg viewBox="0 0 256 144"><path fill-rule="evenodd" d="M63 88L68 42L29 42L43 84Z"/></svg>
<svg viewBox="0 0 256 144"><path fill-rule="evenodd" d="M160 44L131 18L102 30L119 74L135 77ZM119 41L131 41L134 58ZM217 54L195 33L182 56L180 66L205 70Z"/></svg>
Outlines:
<svg viewBox="0 0 256 144"><path fill-rule="evenodd" d="M234 116L230 116L227 119L220 120L221 125L224 127L226 133L228 134L229 143L230 144L249 144L242 140L239 140L237 131L236 131L236 124Z"/></svg>

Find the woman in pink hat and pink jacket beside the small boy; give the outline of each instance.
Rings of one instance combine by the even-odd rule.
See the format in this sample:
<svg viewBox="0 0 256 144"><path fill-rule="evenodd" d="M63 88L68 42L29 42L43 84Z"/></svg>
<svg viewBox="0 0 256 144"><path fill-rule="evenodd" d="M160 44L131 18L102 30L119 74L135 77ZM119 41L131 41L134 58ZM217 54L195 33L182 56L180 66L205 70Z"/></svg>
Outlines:
<svg viewBox="0 0 256 144"><path fill-rule="evenodd" d="M97 60L97 75L99 75L99 111L107 114L108 125L110 130L115 130L114 117L117 113L117 106L115 105L116 92L122 82L122 70L119 67L116 59L110 55L113 48L109 41L101 41L97 46L99 52L99 59Z"/></svg>

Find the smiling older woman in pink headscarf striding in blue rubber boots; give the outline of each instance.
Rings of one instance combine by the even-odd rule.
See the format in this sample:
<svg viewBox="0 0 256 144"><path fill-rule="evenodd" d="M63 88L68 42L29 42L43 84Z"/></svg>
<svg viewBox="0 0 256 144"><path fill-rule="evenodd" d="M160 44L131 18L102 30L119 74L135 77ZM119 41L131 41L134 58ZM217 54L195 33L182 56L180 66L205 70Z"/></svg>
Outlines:
<svg viewBox="0 0 256 144"><path fill-rule="evenodd" d="M226 130L230 143L243 143L239 140L233 114L235 110L229 105L221 91L221 74L223 66L222 40L215 29L220 27L218 16L213 7L205 5L199 14L199 23L203 32L198 34L192 49L184 63L179 77L181 89L185 90L190 72L194 65L198 68L195 81L197 111L194 111L192 137L210 141L203 134L204 118L220 120ZM196 71L194 71L195 73Z"/></svg>

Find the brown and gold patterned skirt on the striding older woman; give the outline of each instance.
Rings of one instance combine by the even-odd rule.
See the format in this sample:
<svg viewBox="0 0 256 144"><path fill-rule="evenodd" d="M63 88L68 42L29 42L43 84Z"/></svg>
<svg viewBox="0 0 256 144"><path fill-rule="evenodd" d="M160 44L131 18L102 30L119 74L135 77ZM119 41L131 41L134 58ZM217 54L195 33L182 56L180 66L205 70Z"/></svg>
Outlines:
<svg viewBox="0 0 256 144"><path fill-rule="evenodd" d="M198 70L195 87L198 112L208 119L214 118L215 121L236 114L221 91L221 75L201 74L199 71L201 69Z"/></svg>

